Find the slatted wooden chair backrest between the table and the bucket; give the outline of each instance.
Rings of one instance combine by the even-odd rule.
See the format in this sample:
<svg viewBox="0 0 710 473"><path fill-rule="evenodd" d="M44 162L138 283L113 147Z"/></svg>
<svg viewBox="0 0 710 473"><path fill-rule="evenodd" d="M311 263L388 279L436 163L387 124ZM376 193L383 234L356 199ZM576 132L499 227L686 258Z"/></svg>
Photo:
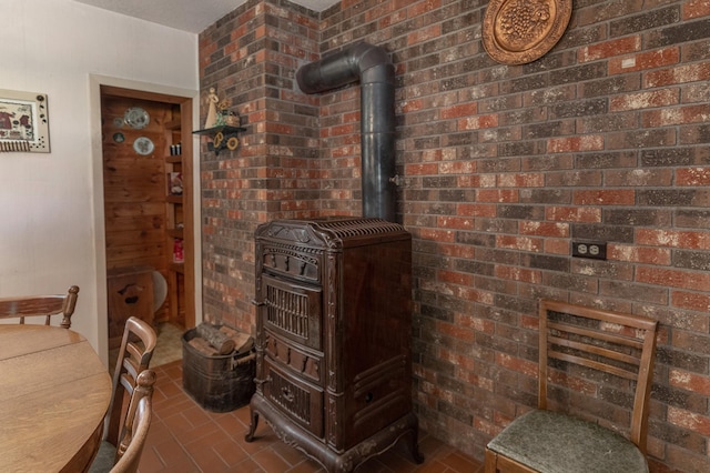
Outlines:
<svg viewBox="0 0 710 473"><path fill-rule="evenodd" d="M123 410L124 397L133 395L138 376L148 370L158 335L146 322L135 316L130 316L125 321L113 372L113 395L106 414L108 422L104 432L104 440L116 447L121 426L126 419L121 415L126 412Z"/></svg>

